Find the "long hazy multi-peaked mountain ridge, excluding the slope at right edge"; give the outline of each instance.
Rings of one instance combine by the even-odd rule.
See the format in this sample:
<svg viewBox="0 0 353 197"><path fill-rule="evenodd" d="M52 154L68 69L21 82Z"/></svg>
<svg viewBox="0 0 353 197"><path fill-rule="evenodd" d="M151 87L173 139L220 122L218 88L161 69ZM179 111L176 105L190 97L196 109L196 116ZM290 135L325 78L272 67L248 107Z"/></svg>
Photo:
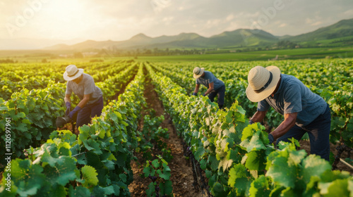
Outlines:
<svg viewBox="0 0 353 197"><path fill-rule="evenodd" d="M175 36L148 37L145 34L137 34L131 39L121 42L103 41L96 42L87 40L71 46L56 45L47 47L47 50L76 50L88 49L173 49L173 48L222 48L234 46L256 46L260 44L271 44L279 39L273 34L263 30L235 30L222 32L213 37L202 37L196 33L181 33Z"/></svg>

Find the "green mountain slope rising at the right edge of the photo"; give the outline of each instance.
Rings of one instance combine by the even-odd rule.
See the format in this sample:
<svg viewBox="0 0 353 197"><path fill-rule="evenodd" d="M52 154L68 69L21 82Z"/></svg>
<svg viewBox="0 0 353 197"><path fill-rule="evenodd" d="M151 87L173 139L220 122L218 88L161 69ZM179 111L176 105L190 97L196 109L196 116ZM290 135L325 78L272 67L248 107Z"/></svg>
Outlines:
<svg viewBox="0 0 353 197"><path fill-rule="evenodd" d="M294 37L286 37L292 42L309 42L323 39L335 39L340 37L353 36L353 18L340 20L338 23L328 27L321 27L318 30ZM282 38L283 39L283 38Z"/></svg>

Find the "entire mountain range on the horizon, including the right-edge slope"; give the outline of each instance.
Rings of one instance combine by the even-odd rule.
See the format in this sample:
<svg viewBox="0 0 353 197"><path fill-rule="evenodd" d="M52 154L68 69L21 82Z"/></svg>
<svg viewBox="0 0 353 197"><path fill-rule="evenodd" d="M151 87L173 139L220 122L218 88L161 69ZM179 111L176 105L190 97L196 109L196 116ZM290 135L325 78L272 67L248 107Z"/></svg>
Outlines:
<svg viewBox="0 0 353 197"><path fill-rule="evenodd" d="M125 41L87 40L73 45L55 45L45 49L49 50L75 50L86 51L90 49L200 49L200 48L232 48L273 46L280 40L300 43L322 39L334 39L353 36L353 19L341 20L328 27L298 36L285 35L276 37L263 30L239 29L222 32L212 37L202 37L196 33L181 33L174 36L148 37L145 34L136 34Z"/></svg>

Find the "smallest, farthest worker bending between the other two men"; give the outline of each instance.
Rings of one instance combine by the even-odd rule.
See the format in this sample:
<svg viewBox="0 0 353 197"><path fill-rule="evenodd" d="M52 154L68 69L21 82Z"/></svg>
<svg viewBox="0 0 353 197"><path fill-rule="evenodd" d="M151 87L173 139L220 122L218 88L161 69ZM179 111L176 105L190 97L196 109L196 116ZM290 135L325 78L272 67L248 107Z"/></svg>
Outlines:
<svg viewBox="0 0 353 197"><path fill-rule="evenodd" d="M193 78L196 79L196 87L193 91L193 96L196 96L198 94L200 84L203 84L206 88L208 88L207 91L203 94L203 96L208 95L210 101L213 102L215 96L218 94L218 107L222 109L225 103L225 83L221 80L218 80L212 72L205 71L205 68L194 68Z"/></svg>

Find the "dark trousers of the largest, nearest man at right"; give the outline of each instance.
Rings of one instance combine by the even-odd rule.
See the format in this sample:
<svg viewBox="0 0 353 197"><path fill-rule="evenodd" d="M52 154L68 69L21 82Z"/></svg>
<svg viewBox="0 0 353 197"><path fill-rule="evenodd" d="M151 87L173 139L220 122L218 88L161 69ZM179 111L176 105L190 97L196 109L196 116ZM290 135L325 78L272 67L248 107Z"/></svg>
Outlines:
<svg viewBox="0 0 353 197"><path fill-rule="evenodd" d="M289 139L297 139L308 132L310 139L310 153L320 155L321 158L330 161L330 127L331 127L331 113L330 107L327 106L325 113L319 115L313 122L305 127L298 127L295 125L292 129L277 139L276 144L280 141L289 141Z"/></svg>

